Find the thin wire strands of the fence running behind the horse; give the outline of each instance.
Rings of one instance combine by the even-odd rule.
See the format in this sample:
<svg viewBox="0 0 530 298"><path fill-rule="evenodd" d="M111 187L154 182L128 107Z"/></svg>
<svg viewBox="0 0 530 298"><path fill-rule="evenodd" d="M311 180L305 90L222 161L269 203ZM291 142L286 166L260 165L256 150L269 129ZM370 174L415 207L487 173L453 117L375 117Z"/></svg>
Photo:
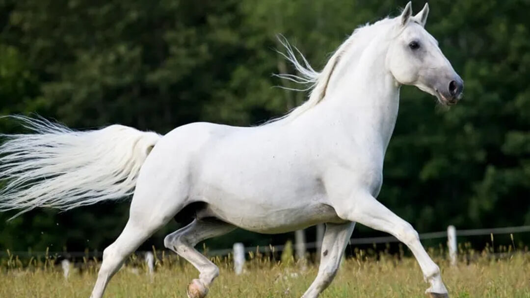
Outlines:
<svg viewBox="0 0 530 298"><path fill-rule="evenodd" d="M515 233L524 233L530 232L530 225L523 225L521 227L505 227L505 228L491 228L491 229L470 229L470 230L456 230L457 237L467 237L467 236L488 236L488 235L498 235L498 234L515 234ZM427 232L419 234L420 239L440 239L447 238L447 231L439 232ZM392 243L399 242L393 236L384 236L384 237L368 237L368 238L352 238L349 241L350 245L367 245L367 244L379 244L379 243ZM320 245L319 242L308 242L305 243L306 249L316 249ZM251 246L245 247L245 253L249 252L260 252L262 254L268 254L272 252L280 252L285 249L285 245L269 245L269 246ZM208 256L227 256L232 254L232 248L226 249L216 249L216 250L207 250L205 254ZM138 255L146 254L147 251L138 251ZM102 251L0 251L0 257L8 256L18 256L22 258L30 257L42 257L42 256L51 256L58 258L101 258L103 255Z"/></svg>

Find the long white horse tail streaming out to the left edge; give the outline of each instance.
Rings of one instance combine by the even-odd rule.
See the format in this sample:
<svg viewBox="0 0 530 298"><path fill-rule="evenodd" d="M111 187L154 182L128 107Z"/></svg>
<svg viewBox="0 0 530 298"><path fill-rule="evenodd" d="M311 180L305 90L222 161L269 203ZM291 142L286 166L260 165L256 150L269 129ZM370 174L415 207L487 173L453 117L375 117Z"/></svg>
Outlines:
<svg viewBox="0 0 530 298"><path fill-rule="evenodd" d="M68 210L133 192L140 167L161 138L123 125L75 131L10 116L31 134L0 134L0 211ZM4 185L2 187L2 184Z"/></svg>

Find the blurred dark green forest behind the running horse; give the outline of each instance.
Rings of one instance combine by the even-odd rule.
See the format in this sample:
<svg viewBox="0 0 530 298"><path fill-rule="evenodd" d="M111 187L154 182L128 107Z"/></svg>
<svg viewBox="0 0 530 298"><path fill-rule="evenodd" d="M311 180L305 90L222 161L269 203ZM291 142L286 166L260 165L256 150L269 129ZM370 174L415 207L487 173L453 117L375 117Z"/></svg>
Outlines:
<svg viewBox="0 0 530 298"><path fill-rule="evenodd" d="M398 15L405 4L0 0L0 115L160 133L194 121L259 124L306 96L275 87L286 83L271 74L294 71L274 51L277 34L321 69L357 26ZM414 12L423 4L413 1ZM419 232L530 224L528 11L528 0L430 3L427 30L464 79L465 96L447 109L416 88L402 89L379 196ZM0 131L21 130L0 119ZM0 250L102 250L123 228L128 205L36 210L10 222L12 213L0 214ZM176 228L172 222L143 248L162 248ZM354 237L376 234L359 227ZM292 237L236 231L208 244Z"/></svg>

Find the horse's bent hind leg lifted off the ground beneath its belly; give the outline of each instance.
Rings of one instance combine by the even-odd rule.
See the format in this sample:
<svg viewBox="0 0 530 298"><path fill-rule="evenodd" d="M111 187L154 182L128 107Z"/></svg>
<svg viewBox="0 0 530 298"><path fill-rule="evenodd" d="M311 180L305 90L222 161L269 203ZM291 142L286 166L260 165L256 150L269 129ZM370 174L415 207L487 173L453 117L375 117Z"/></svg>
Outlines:
<svg viewBox="0 0 530 298"><path fill-rule="evenodd" d="M193 279L188 285L189 298L204 298L214 279L219 275L219 268L207 257L202 255L195 246L200 241L220 236L235 229L234 225L217 220L193 220L186 227L177 230L164 239L164 246L188 260L197 270L199 278Z"/></svg>

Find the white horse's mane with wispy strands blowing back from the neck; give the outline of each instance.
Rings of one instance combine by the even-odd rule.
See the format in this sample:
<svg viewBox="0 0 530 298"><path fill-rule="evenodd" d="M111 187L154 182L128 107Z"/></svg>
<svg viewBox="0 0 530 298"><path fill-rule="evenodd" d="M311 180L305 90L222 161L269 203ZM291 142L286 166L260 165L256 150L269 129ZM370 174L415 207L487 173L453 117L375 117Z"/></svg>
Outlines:
<svg viewBox="0 0 530 298"><path fill-rule="evenodd" d="M280 52L280 54L295 67L299 75L277 74L275 76L290 80L297 84L308 85L308 87L304 89L284 88L295 91L310 91L310 95L308 100L303 104L295 107L295 109L291 110L288 114L274 119L271 122L276 122L282 119L294 119L323 101L326 96L326 91L332 83L332 76L333 78L337 77L334 74L340 73L341 68L345 65L344 63L340 63L345 60L342 58L348 56L349 59L346 59L346 62L348 62L346 65L355 62L355 58L360 57L360 54L366 48L367 44L372 41L376 35L380 34L380 31L388 28L389 24L393 24L393 20L394 19L385 18L371 25L367 23L366 25L355 29L346 41L343 42L333 53L320 73L311 67L304 55L296 47L291 46L287 39L284 37L278 38L282 46L286 49L286 53ZM296 53L302 58L302 62L298 60Z"/></svg>

